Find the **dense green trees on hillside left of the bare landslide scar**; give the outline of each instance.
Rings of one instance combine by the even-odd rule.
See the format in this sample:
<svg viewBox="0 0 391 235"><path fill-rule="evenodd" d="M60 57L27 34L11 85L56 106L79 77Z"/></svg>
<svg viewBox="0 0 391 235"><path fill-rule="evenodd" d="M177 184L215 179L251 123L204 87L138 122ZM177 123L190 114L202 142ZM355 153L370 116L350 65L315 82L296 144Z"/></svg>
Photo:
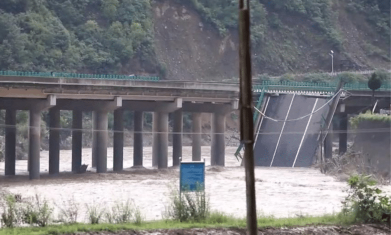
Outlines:
<svg viewBox="0 0 391 235"><path fill-rule="evenodd" d="M149 0L6 0L0 69L110 73L138 54L153 71L156 60L140 49L152 35Z"/></svg>

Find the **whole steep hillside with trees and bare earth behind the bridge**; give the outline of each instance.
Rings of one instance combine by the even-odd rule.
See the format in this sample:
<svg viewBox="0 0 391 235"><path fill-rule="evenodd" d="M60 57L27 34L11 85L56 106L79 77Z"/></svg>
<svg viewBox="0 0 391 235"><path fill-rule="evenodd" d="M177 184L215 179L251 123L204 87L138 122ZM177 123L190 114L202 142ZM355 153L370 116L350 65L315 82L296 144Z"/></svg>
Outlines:
<svg viewBox="0 0 391 235"><path fill-rule="evenodd" d="M389 68L390 0L251 0L253 71ZM1 0L0 69L237 76L237 0Z"/></svg>

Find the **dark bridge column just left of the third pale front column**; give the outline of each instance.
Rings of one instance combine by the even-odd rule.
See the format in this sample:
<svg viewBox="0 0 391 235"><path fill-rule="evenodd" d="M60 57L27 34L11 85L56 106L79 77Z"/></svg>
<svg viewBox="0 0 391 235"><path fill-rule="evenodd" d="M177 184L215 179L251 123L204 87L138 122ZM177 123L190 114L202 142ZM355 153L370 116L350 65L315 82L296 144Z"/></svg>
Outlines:
<svg viewBox="0 0 391 235"><path fill-rule="evenodd" d="M144 113L142 111L134 111L134 134L133 134L133 165L142 166L142 130L144 124Z"/></svg>

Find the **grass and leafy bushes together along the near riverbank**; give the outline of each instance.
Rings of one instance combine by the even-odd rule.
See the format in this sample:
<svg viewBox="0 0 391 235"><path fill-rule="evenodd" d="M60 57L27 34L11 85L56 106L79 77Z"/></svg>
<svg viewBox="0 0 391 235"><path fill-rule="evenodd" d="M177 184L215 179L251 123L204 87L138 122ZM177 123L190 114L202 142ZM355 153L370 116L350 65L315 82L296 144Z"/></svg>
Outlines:
<svg viewBox="0 0 391 235"><path fill-rule="evenodd" d="M305 226L321 224L384 223L390 222L391 197L381 194L370 176L352 175L348 179L350 190L342 201L342 211L323 216L298 215L275 218L258 213L259 227ZM90 224L77 223L79 206L65 203L59 219L53 220L53 207L36 195L24 198L20 194L2 192L0 196L0 234L62 234L77 231L115 231L120 229L158 229L191 227L245 227L245 218L210 210L205 191L182 192L171 188L171 195L163 219L145 221L140 209L131 201L116 202L110 208L93 204L87 206ZM56 222L57 225L54 225ZM102 223L103 222L103 223ZM30 227L19 227L30 224ZM38 227L39 228L38 228Z"/></svg>

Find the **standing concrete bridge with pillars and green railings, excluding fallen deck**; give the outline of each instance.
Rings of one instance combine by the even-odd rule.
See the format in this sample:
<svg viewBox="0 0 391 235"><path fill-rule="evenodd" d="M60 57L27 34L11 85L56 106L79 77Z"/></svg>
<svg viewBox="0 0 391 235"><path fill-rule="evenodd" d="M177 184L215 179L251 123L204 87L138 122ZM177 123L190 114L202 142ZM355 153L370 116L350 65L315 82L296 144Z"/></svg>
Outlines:
<svg viewBox="0 0 391 235"><path fill-rule="evenodd" d="M254 84L255 97L271 93L299 93L329 96L336 84L269 82ZM346 113L371 102L366 84L346 84L340 99ZM389 84L375 94L379 106L389 106ZM168 113L173 113L173 165L179 164L182 144L182 112L192 112L192 159L201 160L201 113L212 113L211 164L224 165L225 116L238 109L239 84L158 80L75 73L0 71L0 109L6 109L5 174L15 174L16 110L30 111L29 174L40 177L41 111L49 109L49 173L59 173L60 110L72 110L72 171L82 162L82 112L93 111L92 166L107 171L107 113L114 112L113 170L122 170L123 111L134 111L134 165L142 165L143 112L153 112L152 165L167 167ZM359 100L357 101L357 98ZM258 103L262 99L258 99ZM346 119L346 118L345 118Z"/></svg>

